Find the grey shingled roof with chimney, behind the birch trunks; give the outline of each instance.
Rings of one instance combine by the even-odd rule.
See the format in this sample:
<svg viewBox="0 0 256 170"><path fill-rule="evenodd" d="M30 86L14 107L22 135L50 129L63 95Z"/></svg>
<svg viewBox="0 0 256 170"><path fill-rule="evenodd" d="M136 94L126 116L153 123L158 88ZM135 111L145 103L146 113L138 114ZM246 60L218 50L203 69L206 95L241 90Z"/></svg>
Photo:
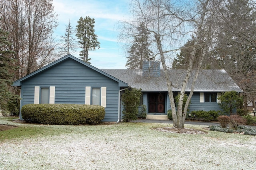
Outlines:
<svg viewBox="0 0 256 170"><path fill-rule="evenodd" d="M163 70L161 70L160 77L143 77L142 70L125 69L102 71L128 83L133 88L141 88L142 91L168 91ZM173 91L180 91L185 74L186 70L169 70ZM193 75L194 72L192 72L191 78ZM186 91L190 91L191 82L192 80L188 82ZM226 92L232 90L242 92L225 70L200 70L194 88L195 92Z"/></svg>

